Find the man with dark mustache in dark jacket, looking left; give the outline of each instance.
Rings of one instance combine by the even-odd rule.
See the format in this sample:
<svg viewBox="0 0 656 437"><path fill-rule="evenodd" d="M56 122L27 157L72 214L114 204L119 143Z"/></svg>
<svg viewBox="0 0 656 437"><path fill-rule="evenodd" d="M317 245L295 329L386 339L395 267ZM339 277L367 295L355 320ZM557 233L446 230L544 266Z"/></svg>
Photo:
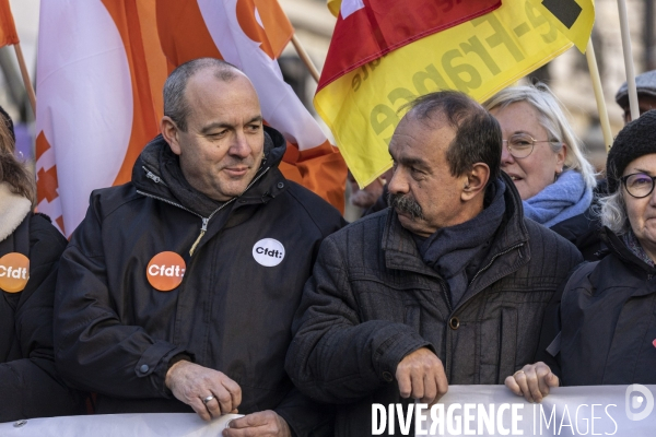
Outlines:
<svg viewBox="0 0 656 437"><path fill-rule="evenodd" d="M336 435L371 435L373 403L434 403L448 383L503 383L532 363L544 308L582 257L524 218L501 146L465 94L417 98L389 143L391 208L321 244L285 368L339 404Z"/></svg>

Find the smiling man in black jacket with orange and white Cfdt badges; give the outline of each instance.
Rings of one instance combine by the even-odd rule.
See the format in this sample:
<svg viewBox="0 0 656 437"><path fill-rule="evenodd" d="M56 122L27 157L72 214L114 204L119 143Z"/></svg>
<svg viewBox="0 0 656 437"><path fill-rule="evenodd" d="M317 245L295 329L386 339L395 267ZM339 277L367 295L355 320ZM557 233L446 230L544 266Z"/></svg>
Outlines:
<svg viewBox="0 0 656 437"><path fill-rule="evenodd" d="M237 412L224 436L330 433L284 371L291 324L339 212L286 180L253 84L201 58L164 85L132 180L91 194L62 255L57 365L97 413Z"/></svg>

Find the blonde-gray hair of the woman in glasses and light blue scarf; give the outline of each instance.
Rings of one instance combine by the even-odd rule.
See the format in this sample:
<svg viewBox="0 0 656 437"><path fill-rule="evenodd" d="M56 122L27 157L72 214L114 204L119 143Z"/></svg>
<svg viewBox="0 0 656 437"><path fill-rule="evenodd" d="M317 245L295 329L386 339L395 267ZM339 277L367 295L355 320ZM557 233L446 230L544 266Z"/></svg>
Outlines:
<svg viewBox="0 0 656 437"><path fill-rule="evenodd" d="M578 170L587 187L595 188L597 186L595 167L584 156L583 144L576 138L563 107L549 86L541 82L535 85L508 86L483 103L483 107L488 110L503 109L519 102L528 103L538 113L540 126L547 130L549 140L553 141L550 143L553 153L559 153L563 143L567 144L570 153L565 165L567 168Z"/></svg>

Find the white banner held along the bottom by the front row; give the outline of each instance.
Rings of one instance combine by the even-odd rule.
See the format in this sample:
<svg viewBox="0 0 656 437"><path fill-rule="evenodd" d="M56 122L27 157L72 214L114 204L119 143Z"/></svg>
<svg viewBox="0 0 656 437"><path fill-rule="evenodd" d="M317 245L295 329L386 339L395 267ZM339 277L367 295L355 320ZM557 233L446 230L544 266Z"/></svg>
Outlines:
<svg viewBox="0 0 656 437"><path fill-rule="evenodd" d="M401 405L373 404L372 435L653 437L654 393L656 386L564 387L552 390L542 403L531 404L503 386L452 386L431 409L419 403L405 411ZM210 423L190 413L32 418L0 424L0 436L215 437L235 417L239 415Z"/></svg>

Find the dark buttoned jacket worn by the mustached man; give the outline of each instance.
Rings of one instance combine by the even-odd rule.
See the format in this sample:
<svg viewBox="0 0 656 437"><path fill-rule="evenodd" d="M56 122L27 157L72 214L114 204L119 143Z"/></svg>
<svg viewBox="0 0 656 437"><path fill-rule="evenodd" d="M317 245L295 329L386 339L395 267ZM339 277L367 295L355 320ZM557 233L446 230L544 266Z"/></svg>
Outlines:
<svg viewBox="0 0 656 437"><path fill-rule="evenodd" d="M344 404L336 435L371 435L372 403L408 402L394 376L403 356L420 347L437 354L454 385L502 383L531 363L543 309L581 255L525 220L513 182L503 177L504 221L455 307L393 210L321 244L285 368L312 398Z"/></svg>

